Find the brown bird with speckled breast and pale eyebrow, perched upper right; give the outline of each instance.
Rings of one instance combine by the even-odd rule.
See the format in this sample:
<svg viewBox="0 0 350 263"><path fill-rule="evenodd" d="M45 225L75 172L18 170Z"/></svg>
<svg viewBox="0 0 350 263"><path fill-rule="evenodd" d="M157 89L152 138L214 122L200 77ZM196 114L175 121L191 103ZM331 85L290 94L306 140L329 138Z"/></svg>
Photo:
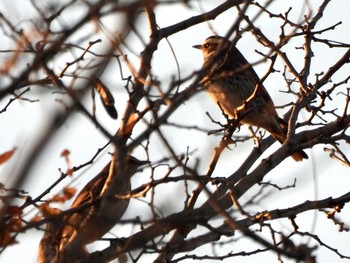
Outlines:
<svg viewBox="0 0 350 263"><path fill-rule="evenodd" d="M202 68L206 75L201 83L225 114L239 118L240 123L265 129L283 144L288 124L278 116L260 78L232 42L214 35L193 48L201 50L204 57ZM308 159L302 150L291 156L295 161Z"/></svg>

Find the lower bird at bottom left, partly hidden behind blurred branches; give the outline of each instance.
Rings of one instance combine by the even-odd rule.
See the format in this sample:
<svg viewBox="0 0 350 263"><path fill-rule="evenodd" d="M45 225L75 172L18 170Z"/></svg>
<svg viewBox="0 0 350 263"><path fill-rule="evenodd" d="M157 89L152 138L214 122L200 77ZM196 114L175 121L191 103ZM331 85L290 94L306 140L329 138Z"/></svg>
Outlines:
<svg viewBox="0 0 350 263"><path fill-rule="evenodd" d="M130 178L140 166L147 163L128 156L125 164L120 165L123 166L123 172L120 173L120 166L112 159L83 187L71 205L71 208L78 210L65 216L63 227L57 231L57 255L51 262L75 262L88 256L85 246L108 233L125 213L130 198L123 198L123 195L131 190ZM117 184L114 185L113 196L105 201L104 190L110 171L116 176ZM110 209L100 209L102 202L107 202Z"/></svg>

